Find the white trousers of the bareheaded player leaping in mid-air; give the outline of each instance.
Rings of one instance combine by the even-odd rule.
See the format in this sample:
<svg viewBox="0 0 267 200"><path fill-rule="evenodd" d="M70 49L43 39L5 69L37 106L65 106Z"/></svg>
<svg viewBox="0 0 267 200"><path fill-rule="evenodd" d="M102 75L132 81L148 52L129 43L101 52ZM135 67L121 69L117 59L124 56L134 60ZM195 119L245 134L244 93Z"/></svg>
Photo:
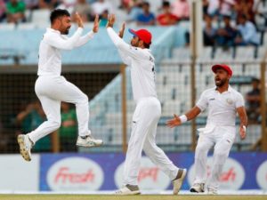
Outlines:
<svg viewBox="0 0 267 200"><path fill-rule="evenodd" d="M63 76L39 76L36 80L35 91L41 101L47 121L35 131L28 133L30 140L36 143L37 140L61 127L61 101L76 105L78 134L88 135L88 97L77 86L69 83Z"/></svg>

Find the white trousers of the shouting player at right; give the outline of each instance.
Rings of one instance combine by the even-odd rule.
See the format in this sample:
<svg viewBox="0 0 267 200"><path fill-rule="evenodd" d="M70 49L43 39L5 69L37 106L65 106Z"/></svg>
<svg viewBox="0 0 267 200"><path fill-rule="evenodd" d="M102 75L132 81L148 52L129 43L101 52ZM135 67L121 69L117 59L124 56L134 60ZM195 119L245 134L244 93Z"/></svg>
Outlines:
<svg viewBox="0 0 267 200"><path fill-rule="evenodd" d="M206 183L206 158L210 148L214 147L213 164L207 188L217 190L219 180L223 171L223 164L229 156L232 144L235 140L234 126L215 126L212 132L200 132L198 145L195 153L195 172L194 183Z"/></svg>

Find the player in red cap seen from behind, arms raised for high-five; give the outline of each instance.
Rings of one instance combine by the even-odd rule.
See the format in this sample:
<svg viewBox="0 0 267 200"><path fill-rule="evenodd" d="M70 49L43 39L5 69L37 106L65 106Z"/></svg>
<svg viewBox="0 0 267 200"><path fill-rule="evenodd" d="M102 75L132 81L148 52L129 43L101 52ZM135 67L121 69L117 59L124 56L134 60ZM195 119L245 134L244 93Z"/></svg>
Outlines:
<svg viewBox="0 0 267 200"><path fill-rule="evenodd" d="M125 30L123 24L119 36L113 30L115 15L110 15L107 31L112 42L117 46L121 59L126 65L131 66L131 80L136 108L133 116L131 138L125 157L124 187L120 188L117 195L140 194L137 177L140 170L142 149L150 160L173 180L174 195L178 194L186 170L177 168L158 148L155 137L161 106L157 97L155 85L155 63L150 51L151 34L146 29L134 31L131 45L122 39Z"/></svg>

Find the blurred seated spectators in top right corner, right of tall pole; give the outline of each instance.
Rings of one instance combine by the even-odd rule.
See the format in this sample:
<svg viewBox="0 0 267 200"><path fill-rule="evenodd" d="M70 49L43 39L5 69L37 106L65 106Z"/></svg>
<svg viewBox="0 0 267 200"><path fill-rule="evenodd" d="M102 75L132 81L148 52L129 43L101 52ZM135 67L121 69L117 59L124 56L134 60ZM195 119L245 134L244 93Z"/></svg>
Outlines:
<svg viewBox="0 0 267 200"><path fill-rule="evenodd" d="M204 44L218 46L259 45L261 44L260 27L256 15L264 19L259 12L262 1L255 0L218 0L204 1ZM214 21L216 25L214 26Z"/></svg>

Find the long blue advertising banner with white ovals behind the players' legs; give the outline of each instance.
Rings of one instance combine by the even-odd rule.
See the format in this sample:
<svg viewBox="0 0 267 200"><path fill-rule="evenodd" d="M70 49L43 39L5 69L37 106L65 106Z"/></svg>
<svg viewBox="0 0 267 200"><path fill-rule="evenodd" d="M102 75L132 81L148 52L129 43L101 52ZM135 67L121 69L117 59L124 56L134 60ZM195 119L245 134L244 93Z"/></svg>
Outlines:
<svg viewBox="0 0 267 200"><path fill-rule="evenodd" d="M194 154L167 154L173 163L187 168L182 189L194 180ZM124 154L44 154L40 160L42 191L116 190L123 186ZM212 170L212 155L207 159L207 177ZM149 157L142 156L138 176L142 190L172 189L171 180ZM267 154L231 153L223 166L221 189L267 189ZM208 182L208 179L207 179Z"/></svg>

